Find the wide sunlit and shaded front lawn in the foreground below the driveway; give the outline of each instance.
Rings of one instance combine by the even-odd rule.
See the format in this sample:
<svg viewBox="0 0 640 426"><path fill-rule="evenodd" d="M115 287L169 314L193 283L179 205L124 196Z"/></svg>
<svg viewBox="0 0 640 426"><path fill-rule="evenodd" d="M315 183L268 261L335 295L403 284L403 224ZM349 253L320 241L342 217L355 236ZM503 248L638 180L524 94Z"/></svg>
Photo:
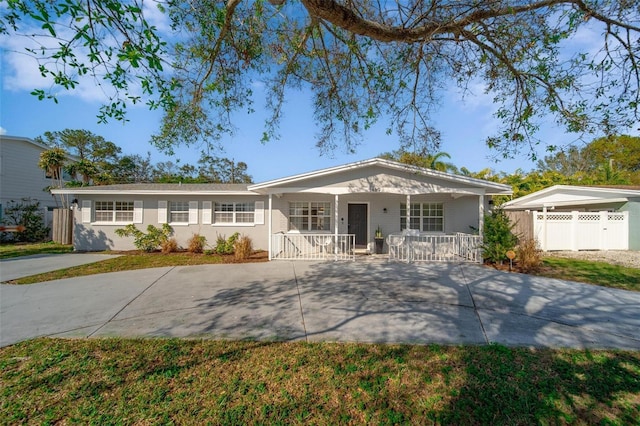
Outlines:
<svg viewBox="0 0 640 426"><path fill-rule="evenodd" d="M640 353L35 339L0 349L2 423L637 424Z"/></svg>

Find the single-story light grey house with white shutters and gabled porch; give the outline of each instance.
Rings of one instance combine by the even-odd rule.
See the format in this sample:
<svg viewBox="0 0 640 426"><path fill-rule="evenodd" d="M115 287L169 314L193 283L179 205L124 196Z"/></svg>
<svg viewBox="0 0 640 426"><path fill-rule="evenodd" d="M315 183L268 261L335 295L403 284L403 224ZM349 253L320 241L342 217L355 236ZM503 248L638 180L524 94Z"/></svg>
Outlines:
<svg viewBox="0 0 640 426"><path fill-rule="evenodd" d="M215 244L218 235L239 232L275 259L372 252L378 227L385 236L414 230L418 257L436 244L451 254L472 228L482 229L489 196L512 190L374 158L251 185L130 184L53 192L77 199L77 250L133 249L132 239L118 237L116 229L169 223L183 246L195 233ZM385 252L402 239L387 240Z"/></svg>

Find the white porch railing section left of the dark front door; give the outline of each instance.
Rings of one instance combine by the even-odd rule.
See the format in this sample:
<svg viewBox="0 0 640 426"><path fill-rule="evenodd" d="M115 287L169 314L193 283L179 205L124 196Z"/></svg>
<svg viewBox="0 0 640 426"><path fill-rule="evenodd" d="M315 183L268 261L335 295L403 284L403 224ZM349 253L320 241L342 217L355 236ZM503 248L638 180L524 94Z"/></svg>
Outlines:
<svg viewBox="0 0 640 426"><path fill-rule="evenodd" d="M274 260L354 260L354 234L285 234L271 236Z"/></svg>

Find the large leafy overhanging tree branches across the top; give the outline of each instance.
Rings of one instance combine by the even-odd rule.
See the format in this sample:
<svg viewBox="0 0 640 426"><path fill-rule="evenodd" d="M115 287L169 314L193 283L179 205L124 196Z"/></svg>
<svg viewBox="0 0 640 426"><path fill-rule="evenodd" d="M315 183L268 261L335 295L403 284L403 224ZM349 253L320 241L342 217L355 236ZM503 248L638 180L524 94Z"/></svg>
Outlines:
<svg viewBox="0 0 640 426"><path fill-rule="evenodd" d="M151 7L170 30L149 23ZM533 152L550 119L579 134L639 120L638 2L41 0L3 13L2 32L35 40L28 53L53 79L36 95L106 80L101 115L124 119L141 98L164 108L153 142L168 151L216 145L253 111L256 85L272 111L264 140L278 135L287 90L310 89L324 150L355 149L381 118L403 148L437 148L432 117L455 85L492 96L503 126L488 143L504 155ZM576 45L584 34L597 45Z"/></svg>

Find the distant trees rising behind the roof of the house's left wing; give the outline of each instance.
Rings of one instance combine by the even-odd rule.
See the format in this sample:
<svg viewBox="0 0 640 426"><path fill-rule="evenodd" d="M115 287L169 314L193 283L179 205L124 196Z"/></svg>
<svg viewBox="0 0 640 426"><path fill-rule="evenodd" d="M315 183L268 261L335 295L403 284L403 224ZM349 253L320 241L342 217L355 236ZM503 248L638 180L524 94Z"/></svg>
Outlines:
<svg viewBox="0 0 640 426"><path fill-rule="evenodd" d="M51 147L40 158L39 166L54 178L62 171L74 177L68 186L119 183L251 183L246 163L202 154L197 164L172 161L151 162L151 154L123 154L113 142L87 130L66 129L45 132L35 138Z"/></svg>

